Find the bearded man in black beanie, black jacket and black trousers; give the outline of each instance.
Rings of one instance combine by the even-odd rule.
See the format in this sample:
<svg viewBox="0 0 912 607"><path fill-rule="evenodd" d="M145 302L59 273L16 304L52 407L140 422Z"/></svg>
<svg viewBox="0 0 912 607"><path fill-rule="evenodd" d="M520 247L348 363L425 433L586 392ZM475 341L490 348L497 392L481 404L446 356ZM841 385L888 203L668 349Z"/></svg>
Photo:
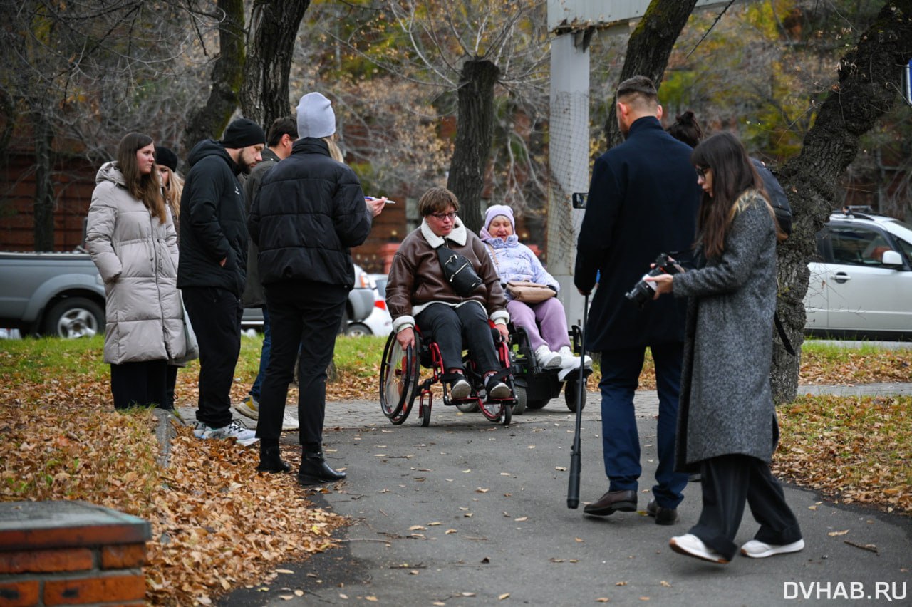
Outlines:
<svg viewBox="0 0 912 607"><path fill-rule="evenodd" d="M204 139L190 152L181 194L181 261L177 285L200 345L198 438L256 441L232 420L231 386L241 352L241 293L247 262L244 190L237 176L263 159L266 136L239 118L221 141Z"/></svg>

